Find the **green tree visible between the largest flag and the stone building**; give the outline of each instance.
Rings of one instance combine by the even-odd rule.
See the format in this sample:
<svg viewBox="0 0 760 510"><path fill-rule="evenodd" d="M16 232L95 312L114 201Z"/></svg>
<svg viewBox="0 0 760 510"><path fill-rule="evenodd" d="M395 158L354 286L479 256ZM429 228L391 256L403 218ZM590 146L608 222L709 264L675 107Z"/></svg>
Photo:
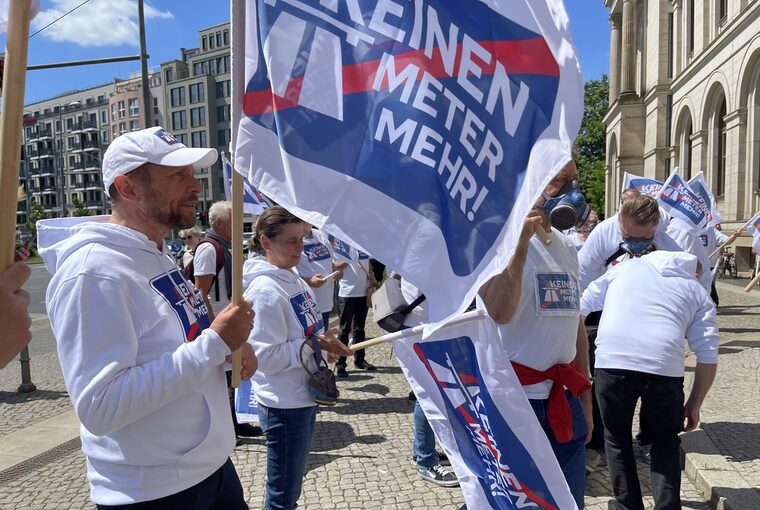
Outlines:
<svg viewBox="0 0 760 510"><path fill-rule="evenodd" d="M609 109L607 75L589 80L584 88L584 111L581 129L575 146L575 160L581 175L581 189L586 200L599 214L604 213L604 162L606 157L607 126L604 116Z"/></svg>

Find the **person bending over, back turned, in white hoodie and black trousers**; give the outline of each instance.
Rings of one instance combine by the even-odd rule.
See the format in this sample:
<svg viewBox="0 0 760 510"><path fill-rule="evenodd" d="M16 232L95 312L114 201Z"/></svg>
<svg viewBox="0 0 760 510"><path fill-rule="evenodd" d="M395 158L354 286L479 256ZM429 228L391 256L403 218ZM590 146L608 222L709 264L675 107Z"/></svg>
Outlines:
<svg viewBox="0 0 760 510"><path fill-rule="evenodd" d="M581 297L583 315L604 308L594 389L615 494L610 508L644 508L631 438L639 399L639 441L651 444L655 507L681 508L678 434L696 428L718 363L715 305L697 282L700 269L691 254L658 250L616 266ZM697 357L685 404L684 338Z"/></svg>

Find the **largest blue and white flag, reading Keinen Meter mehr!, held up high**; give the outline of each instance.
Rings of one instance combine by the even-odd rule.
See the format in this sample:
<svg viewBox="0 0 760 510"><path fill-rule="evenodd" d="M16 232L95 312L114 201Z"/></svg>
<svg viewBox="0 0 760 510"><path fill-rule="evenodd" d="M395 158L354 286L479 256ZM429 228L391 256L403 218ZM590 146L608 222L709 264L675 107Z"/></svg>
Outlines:
<svg viewBox="0 0 760 510"><path fill-rule="evenodd" d="M562 1L232 12L235 169L403 274L431 322L466 308L571 157L583 85Z"/></svg>

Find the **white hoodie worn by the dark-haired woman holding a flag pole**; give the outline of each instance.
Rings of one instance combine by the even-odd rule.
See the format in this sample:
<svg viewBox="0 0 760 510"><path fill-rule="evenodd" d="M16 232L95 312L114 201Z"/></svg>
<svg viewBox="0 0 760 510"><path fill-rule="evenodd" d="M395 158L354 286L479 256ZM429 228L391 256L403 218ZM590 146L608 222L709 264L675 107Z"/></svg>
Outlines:
<svg viewBox="0 0 760 510"><path fill-rule="evenodd" d="M252 378L256 399L277 409L316 405L300 361L303 346L303 360L315 370L314 351L304 345L305 338L324 329L311 289L294 271L264 259L245 262L243 287L256 314L248 337L259 361Z"/></svg>

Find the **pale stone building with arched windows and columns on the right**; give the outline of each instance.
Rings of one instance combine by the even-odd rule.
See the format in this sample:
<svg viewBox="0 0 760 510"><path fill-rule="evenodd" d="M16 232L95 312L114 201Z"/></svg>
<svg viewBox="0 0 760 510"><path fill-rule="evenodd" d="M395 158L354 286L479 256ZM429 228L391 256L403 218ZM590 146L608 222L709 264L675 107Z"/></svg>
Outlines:
<svg viewBox="0 0 760 510"><path fill-rule="evenodd" d="M604 0L610 11L606 213L624 172L703 171L724 231L760 210L760 0ZM737 243L739 269L750 243Z"/></svg>

